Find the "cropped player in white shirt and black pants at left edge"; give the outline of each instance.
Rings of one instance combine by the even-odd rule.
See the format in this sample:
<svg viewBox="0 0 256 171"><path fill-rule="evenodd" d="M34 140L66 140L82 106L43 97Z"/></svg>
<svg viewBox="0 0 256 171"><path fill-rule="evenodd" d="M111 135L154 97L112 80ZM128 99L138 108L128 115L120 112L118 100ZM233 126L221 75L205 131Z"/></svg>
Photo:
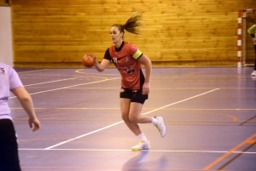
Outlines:
<svg viewBox="0 0 256 171"><path fill-rule="evenodd" d="M23 87L17 72L0 62L0 171L20 171L17 137L8 105L9 91L15 94L26 111L32 131L38 130L40 123L30 94Z"/></svg>

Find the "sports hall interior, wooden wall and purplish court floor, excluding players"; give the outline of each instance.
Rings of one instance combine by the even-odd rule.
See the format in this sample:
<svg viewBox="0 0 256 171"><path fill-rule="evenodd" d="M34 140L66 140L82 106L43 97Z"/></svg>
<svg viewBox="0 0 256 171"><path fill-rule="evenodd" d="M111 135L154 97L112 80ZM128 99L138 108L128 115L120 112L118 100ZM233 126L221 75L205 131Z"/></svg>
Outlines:
<svg viewBox="0 0 256 171"><path fill-rule="evenodd" d="M139 124L142 151L131 151L117 68L81 62L90 53L101 63L110 28L134 12L141 34L124 40L152 62L141 115L167 129ZM255 24L255 0L0 0L0 63L18 73L41 123L32 132L10 93L22 171L255 171Z"/></svg>

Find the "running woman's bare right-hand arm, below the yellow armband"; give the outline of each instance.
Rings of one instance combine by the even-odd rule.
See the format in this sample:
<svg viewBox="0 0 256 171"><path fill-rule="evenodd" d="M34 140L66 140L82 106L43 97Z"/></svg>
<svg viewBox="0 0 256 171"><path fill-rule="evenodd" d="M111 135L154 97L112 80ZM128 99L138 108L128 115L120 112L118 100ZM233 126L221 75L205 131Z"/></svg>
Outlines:
<svg viewBox="0 0 256 171"><path fill-rule="evenodd" d="M150 90L150 76L152 71L152 63L151 60L149 60L148 56L146 54L143 54L139 59L139 62L141 62L145 66L145 83L143 84L143 94L148 94Z"/></svg>

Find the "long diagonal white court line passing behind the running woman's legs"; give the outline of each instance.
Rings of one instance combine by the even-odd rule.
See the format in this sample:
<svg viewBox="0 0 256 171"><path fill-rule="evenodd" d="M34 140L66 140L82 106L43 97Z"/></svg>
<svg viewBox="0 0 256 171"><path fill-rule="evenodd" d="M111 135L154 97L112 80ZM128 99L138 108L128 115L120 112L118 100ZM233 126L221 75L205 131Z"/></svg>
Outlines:
<svg viewBox="0 0 256 171"><path fill-rule="evenodd" d="M195 96L190 97L190 98L185 99L185 100L180 100L180 101L171 103L171 104L169 104L169 105L164 105L164 106L162 106L162 107L160 107L160 108L154 109L153 111L145 112L145 113L143 113L143 114L141 114L141 115L146 115L146 114L152 113L152 112L154 112L154 111L159 111L159 110L161 110L161 109L163 109L163 108L166 108L166 107L168 107L168 106L170 106L170 105L175 105L175 104L177 104L177 103L181 103L181 102L186 101L186 100L191 100L191 99L193 99L193 98L195 98L195 97L199 97L199 96L201 96L201 95L211 93L211 92L216 91L216 90L218 90L218 89L219 89L219 88L215 88L215 89L212 89L212 90L210 90L210 91L207 91L207 92L205 92L205 93L203 93L203 94L198 94L198 95L195 95ZM117 125L117 124L119 124L119 123L124 123L124 121L120 121L120 122L118 122L118 123L113 123L113 124L111 124L111 125L109 125L109 126L107 126L107 127L103 127L103 128L96 129L95 131L92 131L92 132L87 133L87 134L82 134L82 135L80 135L80 136L78 136L78 137L75 137L75 138L73 138L73 139L70 139L70 140L62 141L61 143L58 143L58 144L56 144L56 145L49 146L49 147L47 147L47 148L45 148L45 149L47 150L47 149L51 149L51 148L54 148L54 147L59 146L59 145L66 144L67 142L70 142L70 141L72 141L72 140L77 140L77 139L82 138L82 137L84 137L84 136L87 136L87 135L89 135L89 134L94 134L94 133L99 132L99 131L101 131L101 130L104 130L104 129L106 129L106 128L113 127L113 126L115 126L115 125Z"/></svg>

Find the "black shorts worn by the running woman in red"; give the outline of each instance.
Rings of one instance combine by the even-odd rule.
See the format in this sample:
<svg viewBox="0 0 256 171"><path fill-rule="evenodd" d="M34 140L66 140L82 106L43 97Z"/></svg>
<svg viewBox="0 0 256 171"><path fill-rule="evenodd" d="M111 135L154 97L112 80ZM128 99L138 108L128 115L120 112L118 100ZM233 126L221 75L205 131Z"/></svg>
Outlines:
<svg viewBox="0 0 256 171"><path fill-rule="evenodd" d="M148 94L143 94L141 89L131 90L121 88L120 98L131 99L131 102L144 104L145 100L148 100Z"/></svg>

